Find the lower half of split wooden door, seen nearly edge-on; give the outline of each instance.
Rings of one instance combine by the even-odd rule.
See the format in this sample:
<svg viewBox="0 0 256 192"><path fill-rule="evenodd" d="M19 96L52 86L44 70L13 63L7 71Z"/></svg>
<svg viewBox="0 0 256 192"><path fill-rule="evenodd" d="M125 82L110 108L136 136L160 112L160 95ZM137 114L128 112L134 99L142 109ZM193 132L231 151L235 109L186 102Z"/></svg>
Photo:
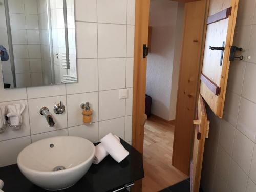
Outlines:
<svg viewBox="0 0 256 192"><path fill-rule="evenodd" d="M199 95L196 111L196 120L194 120L194 143L193 154L190 162L190 191L198 192L200 188L201 170L204 155L204 142L208 138L209 121L205 110L204 101Z"/></svg>

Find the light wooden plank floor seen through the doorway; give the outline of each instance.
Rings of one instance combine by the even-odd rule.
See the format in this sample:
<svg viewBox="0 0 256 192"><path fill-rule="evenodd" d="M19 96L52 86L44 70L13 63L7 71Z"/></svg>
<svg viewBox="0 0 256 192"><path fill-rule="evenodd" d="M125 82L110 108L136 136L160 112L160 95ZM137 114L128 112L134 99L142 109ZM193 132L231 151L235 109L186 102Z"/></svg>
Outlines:
<svg viewBox="0 0 256 192"><path fill-rule="evenodd" d="M143 192L156 192L188 178L172 166L173 139L174 125L148 118L144 131Z"/></svg>

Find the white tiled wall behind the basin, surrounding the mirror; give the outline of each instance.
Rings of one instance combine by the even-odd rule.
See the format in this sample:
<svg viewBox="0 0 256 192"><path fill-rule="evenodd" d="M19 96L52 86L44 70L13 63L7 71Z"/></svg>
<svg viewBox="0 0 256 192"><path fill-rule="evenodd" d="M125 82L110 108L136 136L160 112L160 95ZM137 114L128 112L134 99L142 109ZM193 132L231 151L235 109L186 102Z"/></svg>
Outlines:
<svg viewBox="0 0 256 192"><path fill-rule="evenodd" d="M30 0L19 2L22 6ZM57 135L74 135L98 142L112 132L131 143L135 0L74 2L78 83L5 90L0 73L0 105L26 104L22 129L7 128L0 134L0 167L16 163L17 154L31 142ZM20 10L18 5L13 9ZM26 10L33 9L25 6ZM33 69L41 72L40 66ZM129 89L129 96L119 99L119 89L124 88ZM66 110L56 115L53 107L59 101ZM82 123L80 104L87 101L94 111L91 125ZM49 108L55 127L49 127L45 117L39 114L42 106Z"/></svg>

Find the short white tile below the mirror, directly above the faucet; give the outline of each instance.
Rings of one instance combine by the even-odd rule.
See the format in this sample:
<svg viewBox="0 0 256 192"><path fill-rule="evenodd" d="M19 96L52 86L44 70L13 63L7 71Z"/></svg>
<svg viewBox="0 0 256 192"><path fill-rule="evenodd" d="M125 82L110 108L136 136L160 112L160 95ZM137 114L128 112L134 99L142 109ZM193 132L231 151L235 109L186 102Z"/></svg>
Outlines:
<svg viewBox="0 0 256 192"><path fill-rule="evenodd" d="M58 84L55 86L31 87L27 88L27 91L28 99L66 94L65 84Z"/></svg>

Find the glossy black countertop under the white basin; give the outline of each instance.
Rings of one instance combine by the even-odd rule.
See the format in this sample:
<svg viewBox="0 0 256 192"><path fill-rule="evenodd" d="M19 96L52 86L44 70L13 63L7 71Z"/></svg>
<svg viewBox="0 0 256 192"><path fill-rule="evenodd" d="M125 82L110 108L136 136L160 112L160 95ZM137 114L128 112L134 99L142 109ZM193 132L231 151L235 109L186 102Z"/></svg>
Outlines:
<svg viewBox="0 0 256 192"><path fill-rule="evenodd" d="M141 153L122 139L121 143L130 153L122 162L117 163L110 155L108 155L98 165L92 164L86 175L84 175L75 185L59 191L114 191L122 188L126 184L142 179L144 177L144 170ZM98 143L95 145L97 144ZM34 185L25 178L19 171L17 164L0 168L0 179L5 183L4 188L2 189L5 192L47 191Z"/></svg>

